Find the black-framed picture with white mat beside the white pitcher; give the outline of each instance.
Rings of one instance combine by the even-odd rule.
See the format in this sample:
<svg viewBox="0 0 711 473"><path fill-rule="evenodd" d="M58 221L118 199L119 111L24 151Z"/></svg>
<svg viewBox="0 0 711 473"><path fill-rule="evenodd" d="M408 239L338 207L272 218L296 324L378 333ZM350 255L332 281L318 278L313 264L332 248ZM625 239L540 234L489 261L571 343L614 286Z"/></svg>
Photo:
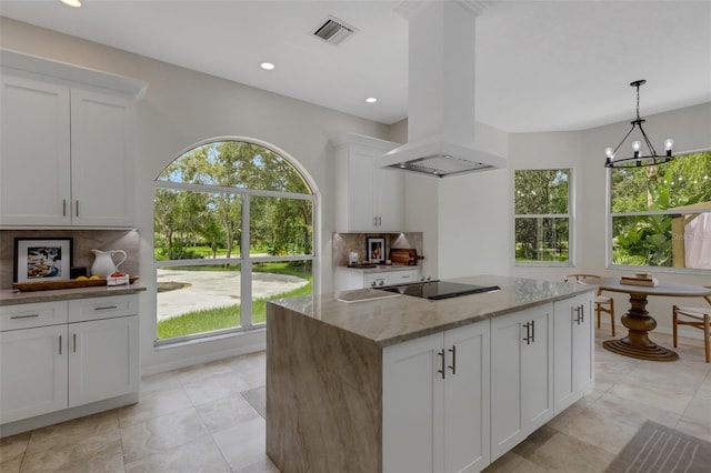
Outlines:
<svg viewBox="0 0 711 473"><path fill-rule="evenodd" d="M16 238L14 282L71 279L72 238Z"/></svg>

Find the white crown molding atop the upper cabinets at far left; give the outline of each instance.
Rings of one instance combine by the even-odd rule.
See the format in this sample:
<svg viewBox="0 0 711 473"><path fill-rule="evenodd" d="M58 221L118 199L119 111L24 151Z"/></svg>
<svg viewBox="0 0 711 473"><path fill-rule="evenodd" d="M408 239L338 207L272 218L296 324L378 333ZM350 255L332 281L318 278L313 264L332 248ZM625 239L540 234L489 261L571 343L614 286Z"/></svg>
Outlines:
<svg viewBox="0 0 711 473"><path fill-rule="evenodd" d="M130 93L136 98L142 98L148 88L148 83L139 79L60 62L53 59L26 54L23 52L6 48L0 48L0 66L17 69L19 71L33 72L56 79Z"/></svg>

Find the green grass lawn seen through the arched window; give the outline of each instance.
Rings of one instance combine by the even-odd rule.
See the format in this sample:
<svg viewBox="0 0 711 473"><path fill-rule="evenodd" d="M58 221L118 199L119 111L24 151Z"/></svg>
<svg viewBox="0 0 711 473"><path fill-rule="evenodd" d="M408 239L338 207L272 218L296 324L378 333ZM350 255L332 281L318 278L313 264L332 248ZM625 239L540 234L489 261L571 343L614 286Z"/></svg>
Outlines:
<svg viewBox="0 0 711 473"><path fill-rule="evenodd" d="M183 269L189 268L190 266L186 266ZM216 268L216 270L219 270L219 268ZM312 293L313 275L311 274L310 262L298 265L289 262L256 263L252 266L252 272L289 274L309 281L309 283L302 288L283 294L277 294L269 299L296 298L299 295L311 295ZM242 323L240 309L239 304L234 304L189 312L177 318L160 321L157 328L158 338L164 340L240 326ZM252 300L252 324L263 323L266 321L267 299Z"/></svg>

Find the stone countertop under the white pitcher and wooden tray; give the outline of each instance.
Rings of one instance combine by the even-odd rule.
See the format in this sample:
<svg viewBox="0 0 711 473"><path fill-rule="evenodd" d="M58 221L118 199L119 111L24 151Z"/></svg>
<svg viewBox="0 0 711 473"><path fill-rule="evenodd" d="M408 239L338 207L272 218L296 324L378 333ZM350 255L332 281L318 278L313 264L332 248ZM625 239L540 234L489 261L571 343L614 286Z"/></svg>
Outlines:
<svg viewBox="0 0 711 473"><path fill-rule="evenodd" d="M68 301L71 299L107 298L111 295L136 294L146 291L140 282L124 285L100 285L77 289L53 289L49 291L20 292L12 289L0 291L0 306L16 304L32 304L37 302Z"/></svg>

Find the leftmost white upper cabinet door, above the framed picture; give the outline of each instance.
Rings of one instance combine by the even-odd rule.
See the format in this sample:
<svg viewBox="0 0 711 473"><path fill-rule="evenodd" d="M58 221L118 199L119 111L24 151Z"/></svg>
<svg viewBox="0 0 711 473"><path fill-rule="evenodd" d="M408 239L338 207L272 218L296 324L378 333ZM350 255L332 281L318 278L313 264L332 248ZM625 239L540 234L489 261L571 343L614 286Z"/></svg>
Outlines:
<svg viewBox="0 0 711 473"><path fill-rule="evenodd" d="M1 72L0 224L68 225L69 89Z"/></svg>

